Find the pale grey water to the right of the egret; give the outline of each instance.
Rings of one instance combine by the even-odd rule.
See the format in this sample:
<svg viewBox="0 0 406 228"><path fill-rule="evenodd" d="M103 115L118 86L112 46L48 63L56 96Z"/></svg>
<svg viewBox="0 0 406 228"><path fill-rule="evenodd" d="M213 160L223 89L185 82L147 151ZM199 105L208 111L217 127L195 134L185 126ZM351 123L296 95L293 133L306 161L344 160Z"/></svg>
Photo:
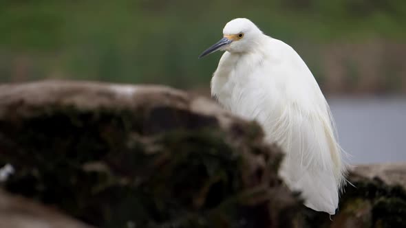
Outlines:
<svg viewBox="0 0 406 228"><path fill-rule="evenodd" d="M328 102L351 163L406 161L406 97Z"/></svg>

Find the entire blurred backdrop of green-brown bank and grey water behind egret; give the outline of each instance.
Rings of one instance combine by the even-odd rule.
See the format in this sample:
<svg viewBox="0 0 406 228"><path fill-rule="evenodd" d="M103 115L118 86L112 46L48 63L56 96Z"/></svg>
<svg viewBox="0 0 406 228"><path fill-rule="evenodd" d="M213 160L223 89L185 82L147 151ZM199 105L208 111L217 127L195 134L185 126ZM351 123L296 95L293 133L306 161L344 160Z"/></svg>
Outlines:
<svg viewBox="0 0 406 228"><path fill-rule="evenodd" d="M154 83L208 96L221 54L197 56L236 17L305 60L352 163L406 161L405 0L3 0L0 82Z"/></svg>

